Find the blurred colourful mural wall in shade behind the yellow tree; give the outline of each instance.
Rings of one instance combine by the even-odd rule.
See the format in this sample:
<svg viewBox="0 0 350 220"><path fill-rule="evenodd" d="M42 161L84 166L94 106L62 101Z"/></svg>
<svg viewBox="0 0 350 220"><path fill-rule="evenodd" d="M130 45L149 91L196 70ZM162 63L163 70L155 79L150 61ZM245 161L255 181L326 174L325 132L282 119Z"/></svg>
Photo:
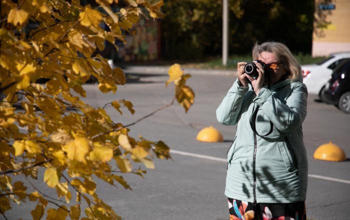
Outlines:
<svg viewBox="0 0 350 220"><path fill-rule="evenodd" d="M125 62L158 58L157 21L141 18L133 29L135 34L127 35L126 44L119 45L117 58Z"/></svg>

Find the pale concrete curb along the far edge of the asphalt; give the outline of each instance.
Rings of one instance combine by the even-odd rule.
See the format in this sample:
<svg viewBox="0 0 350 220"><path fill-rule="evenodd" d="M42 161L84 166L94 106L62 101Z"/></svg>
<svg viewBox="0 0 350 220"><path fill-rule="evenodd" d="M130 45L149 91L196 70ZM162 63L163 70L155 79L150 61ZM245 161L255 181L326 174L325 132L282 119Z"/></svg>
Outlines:
<svg viewBox="0 0 350 220"><path fill-rule="evenodd" d="M170 66L148 66L148 65L137 65L137 66L125 66L123 68L125 73L137 73L137 74L166 74ZM183 68L184 73L193 75L234 75L235 70L221 70L221 69L195 69L195 68Z"/></svg>

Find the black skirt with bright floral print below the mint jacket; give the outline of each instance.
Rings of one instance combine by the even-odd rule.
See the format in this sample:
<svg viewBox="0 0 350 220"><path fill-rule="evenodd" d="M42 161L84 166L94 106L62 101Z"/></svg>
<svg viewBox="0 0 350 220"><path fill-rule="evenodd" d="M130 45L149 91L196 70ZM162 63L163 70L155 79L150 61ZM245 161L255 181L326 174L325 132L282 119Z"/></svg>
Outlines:
<svg viewBox="0 0 350 220"><path fill-rule="evenodd" d="M305 201L251 203L228 198L230 220L306 220Z"/></svg>

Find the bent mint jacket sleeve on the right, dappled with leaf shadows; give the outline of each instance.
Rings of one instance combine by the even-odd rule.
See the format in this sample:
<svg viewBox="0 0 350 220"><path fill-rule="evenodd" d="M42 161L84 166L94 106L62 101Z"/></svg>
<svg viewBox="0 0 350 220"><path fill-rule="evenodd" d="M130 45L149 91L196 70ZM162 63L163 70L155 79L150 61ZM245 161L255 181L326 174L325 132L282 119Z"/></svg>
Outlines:
<svg viewBox="0 0 350 220"><path fill-rule="evenodd" d="M290 132L305 119L307 88L302 82L295 83L285 103L275 98L269 89L261 88L253 102L279 131Z"/></svg>

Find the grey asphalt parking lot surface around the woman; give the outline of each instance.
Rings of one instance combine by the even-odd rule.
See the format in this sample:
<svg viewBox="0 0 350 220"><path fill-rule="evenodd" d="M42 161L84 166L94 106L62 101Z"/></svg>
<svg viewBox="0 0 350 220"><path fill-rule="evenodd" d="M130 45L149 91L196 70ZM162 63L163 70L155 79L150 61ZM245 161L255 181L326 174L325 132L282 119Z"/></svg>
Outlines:
<svg viewBox="0 0 350 220"><path fill-rule="evenodd" d="M130 100L136 110L133 116L126 109L123 109L123 115L120 116L112 107L107 108L113 120L122 123L133 122L171 101L173 87L171 84L167 88L164 86L167 75L138 76L139 80L130 80L126 86L119 86L116 95L98 92L96 84L86 85L85 100L93 106L103 106L114 99ZM149 140L161 139L174 151L170 160L155 159L155 169L148 169L144 178L133 174L125 175L132 191L125 190L122 186L115 188L98 182L97 192L100 197L123 219L229 218L223 194L226 173L224 158L236 127L219 124L215 109L234 78L229 75L195 74L188 79L188 85L196 94L195 104L188 113L175 104L130 127L134 137L141 134ZM317 102L316 98L316 95L309 94L308 112L303 122L310 175L306 198L307 217L347 220L350 216L350 159L327 162L313 159L312 154L320 144L332 141L350 157L350 114L344 114L332 105ZM209 125L221 131L224 142L203 143L195 140L198 131ZM183 152L195 154L183 155ZM197 157L198 154L211 157L200 158ZM39 178L41 176L42 172L39 173ZM44 188L40 181L33 183ZM22 203L19 207L13 205L6 216L8 219L31 219L29 212L34 207L30 202Z"/></svg>

